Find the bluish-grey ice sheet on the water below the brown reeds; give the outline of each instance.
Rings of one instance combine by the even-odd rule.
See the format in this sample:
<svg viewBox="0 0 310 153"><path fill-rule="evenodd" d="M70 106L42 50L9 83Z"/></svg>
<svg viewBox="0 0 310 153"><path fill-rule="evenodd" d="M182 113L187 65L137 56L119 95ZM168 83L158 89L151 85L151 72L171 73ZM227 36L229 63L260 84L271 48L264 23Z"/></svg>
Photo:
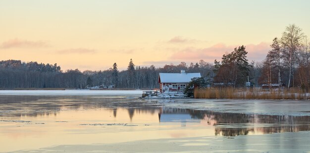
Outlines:
<svg viewBox="0 0 310 153"><path fill-rule="evenodd" d="M164 107L222 113L256 115L310 116L310 102L303 100L197 100L183 99L174 103L160 103Z"/></svg>

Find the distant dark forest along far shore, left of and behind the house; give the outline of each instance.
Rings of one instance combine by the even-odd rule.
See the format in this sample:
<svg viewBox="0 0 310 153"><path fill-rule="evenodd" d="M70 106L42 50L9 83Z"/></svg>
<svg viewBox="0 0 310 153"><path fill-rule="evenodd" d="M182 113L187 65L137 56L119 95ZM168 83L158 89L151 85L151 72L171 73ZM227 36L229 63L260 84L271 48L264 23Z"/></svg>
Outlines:
<svg viewBox="0 0 310 153"><path fill-rule="evenodd" d="M202 76L212 74L213 65L200 60L196 64L169 64L162 68L136 66L130 59L128 68L119 71L117 64L104 71L81 72L78 69L62 71L57 64L0 61L0 88L75 88L84 89L100 85L115 85L116 88L154 89L159 88L159 73L200 72Z"/></svg>

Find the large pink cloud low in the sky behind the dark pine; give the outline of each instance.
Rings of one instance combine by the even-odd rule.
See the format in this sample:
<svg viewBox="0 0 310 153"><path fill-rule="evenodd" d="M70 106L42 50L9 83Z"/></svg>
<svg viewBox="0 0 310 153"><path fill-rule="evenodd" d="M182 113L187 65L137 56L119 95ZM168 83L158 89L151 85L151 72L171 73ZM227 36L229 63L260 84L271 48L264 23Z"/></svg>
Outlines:
<svg viewBox="0 0 310 153"><path fill-rule="evenodd" d="M223 43L218 43L207 48L186 47L173 53L170 58L184 61L199 61L200 59L203 59L208 62L213 62L214 59L220 60L223 54L232 52L234 48L238 46L239 45L227 46ZM248 59L255 61L262 61L270 49L269 44L265 42L248 44L245 46L248 51Z"/></svg>

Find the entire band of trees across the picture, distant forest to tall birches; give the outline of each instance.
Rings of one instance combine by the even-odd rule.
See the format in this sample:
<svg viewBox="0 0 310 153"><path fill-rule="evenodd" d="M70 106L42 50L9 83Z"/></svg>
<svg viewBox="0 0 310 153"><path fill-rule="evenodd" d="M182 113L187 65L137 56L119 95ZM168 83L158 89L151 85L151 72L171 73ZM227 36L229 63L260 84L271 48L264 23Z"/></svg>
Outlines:
<svg viewBox="0 0 310 153"><path fill-rule="evenodd" d="M62 71L57 64L0 61L0 88L79 88L99 85L115 85L115 88L159 88L159 73L201 73L212 86L213 82L224 86L244 87L250 80L255 87L261 84L283 84L310 91L310 43L296 25L289 25L281 38L274 38L270 50L262 62L249 62L246 46L236 47L224 54L219 62L204 60L178 65L167 64L162 68L136 66L130 59L126 70L119 71L117 64L104 71L81 72L78 69ZM270 85L271 86L271 85Z"/></svg>

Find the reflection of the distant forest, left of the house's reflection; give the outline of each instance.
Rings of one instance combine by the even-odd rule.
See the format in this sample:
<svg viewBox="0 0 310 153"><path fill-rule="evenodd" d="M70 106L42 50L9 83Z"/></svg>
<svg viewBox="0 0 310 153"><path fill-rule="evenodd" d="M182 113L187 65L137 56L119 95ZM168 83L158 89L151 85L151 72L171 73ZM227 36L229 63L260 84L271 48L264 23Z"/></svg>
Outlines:
<svg viewBox="0 0 310 153"><path fill-rule="evenodd" d="M65 110L107 109L117 116L117 109L128 110L132 120L135 113L154 114L159 108L142 105L137 99L83 96L0 96L0 117L56 116Z"/></svg>

